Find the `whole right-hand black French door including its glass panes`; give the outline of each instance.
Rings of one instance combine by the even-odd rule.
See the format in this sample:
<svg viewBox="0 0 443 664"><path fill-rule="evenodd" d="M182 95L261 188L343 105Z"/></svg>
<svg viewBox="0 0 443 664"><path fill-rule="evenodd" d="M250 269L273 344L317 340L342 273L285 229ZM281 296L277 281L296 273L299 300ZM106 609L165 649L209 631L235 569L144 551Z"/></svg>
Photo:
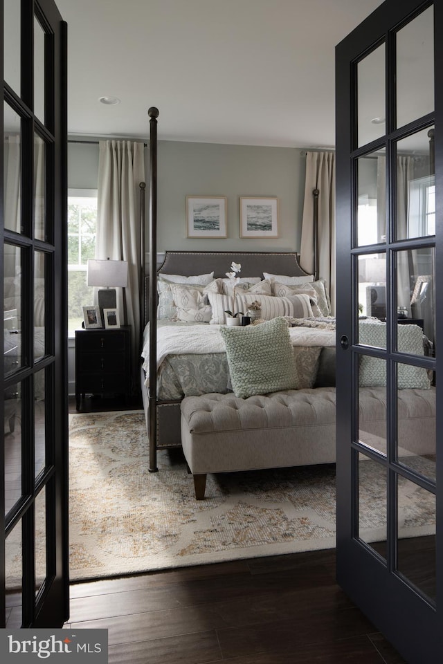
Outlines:
<svg viewBox="0 0 443 664"><path fill-rule="evenodd" d="M337 579L410 664L443 656L442 64L442 0L336 48Z"/></svg>

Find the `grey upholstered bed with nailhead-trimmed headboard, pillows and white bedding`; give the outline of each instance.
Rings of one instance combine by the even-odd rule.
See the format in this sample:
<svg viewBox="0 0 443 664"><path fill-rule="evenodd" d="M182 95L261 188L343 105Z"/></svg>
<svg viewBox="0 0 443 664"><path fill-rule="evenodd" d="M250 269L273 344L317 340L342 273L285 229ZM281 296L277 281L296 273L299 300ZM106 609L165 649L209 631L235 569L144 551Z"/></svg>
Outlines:
<svg viewBox="0 0 443 664"><path fill-rule="evenodd" d="M220 324L223 324L219 322L220 311L233 306L233 294L230 293L229 280L226 278L226 272L233 261L241 265L239 277L242 283L236 286L235 292L238 306L260 300L261 313L266 318L284 315L288 320L298 319L300 313L312 317L314 312L320 320L321 316L329 313L325 311L325 305L329 306L329 303L326 295L323 295L323 280L314 280L313 275L307 275L298 264L295 252L166 252L165 260L156 274L158 302L155 308L155 353L150 353L152 338L147 317L152 307L147 302L149 279L145 280L146 326L143 333L141 387L150 447L154 445L155 450L181 445L180 402L184 396L209 392L225 394L230 391L228 362L218 330ZM225 281L221 283L221 279ZM217 284L214 285L214 282ZM189 297L195 295L191 292L192 286L202 290L209 288L208 293L201 293L197 313L195 307L181 307L179 317L182 320L178 320L172 284L189 287ZM311 284L309 296L298 292L305 284ZM320 289L320 297L312 295L314 286ZM217 292L211 290L215 288ZM281 296L276 294L276 288L282 291ZM297 292L290 293L288 289L291 288L296 288ZM175 291L177 294L177 289ZM195 299L191 304L196 304ZM318 308L318 304L323 306L323 310ZM202 313L204 321L198 320ZM290 333L298 374L303 381L300 385L312 387L322 349L334 351L335 331L294 327ZM155 395L150 395L150 375L155 376ZM154 403L153 423L151 416ZM153 462L151 465L154 465Z"/></svg>

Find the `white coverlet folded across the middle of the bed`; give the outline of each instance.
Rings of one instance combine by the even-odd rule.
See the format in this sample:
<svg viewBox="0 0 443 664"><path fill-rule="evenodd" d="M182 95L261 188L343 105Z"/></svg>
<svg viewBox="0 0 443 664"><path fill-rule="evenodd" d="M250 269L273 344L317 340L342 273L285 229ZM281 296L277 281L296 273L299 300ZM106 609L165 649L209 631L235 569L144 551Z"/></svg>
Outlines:
<svg viewBox="0 0 443 664"><path fill-rule="evenodd" d="M219 333L220 325L164 325L157 330L157 369L168 355L179 353L224 353L224 340ZM335 330L309 327L290 327L289 336L293 346L336 345ZM149 334L144 335L143 369L149 376ZM145 381L147 385L147 381Z"/></svg>

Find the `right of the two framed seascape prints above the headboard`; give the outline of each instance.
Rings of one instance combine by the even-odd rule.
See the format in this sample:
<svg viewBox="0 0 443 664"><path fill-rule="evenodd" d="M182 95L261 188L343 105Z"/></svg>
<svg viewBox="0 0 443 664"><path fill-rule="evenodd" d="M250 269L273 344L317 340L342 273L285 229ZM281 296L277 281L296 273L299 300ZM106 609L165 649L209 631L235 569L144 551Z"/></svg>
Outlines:
<svg viewBox="0 0 443 664"><path fill-rule="evenodd" d="M240 196L240 237L278 237L278 199Z"/></svg>

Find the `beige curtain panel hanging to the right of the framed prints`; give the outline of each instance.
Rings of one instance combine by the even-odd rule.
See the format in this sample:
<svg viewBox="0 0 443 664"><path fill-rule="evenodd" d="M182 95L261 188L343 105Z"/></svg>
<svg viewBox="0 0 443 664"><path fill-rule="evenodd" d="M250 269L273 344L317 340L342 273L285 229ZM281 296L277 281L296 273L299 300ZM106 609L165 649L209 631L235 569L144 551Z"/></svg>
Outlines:
<svg viewBox="0 0 443 664"><path fill-rule="evenodd" d="M314 196L318 189L318 270L316 279L325 279L332 314L335 313L335 154L307 152L305 201L303 203L300 264L314 273Z"/></svg>

